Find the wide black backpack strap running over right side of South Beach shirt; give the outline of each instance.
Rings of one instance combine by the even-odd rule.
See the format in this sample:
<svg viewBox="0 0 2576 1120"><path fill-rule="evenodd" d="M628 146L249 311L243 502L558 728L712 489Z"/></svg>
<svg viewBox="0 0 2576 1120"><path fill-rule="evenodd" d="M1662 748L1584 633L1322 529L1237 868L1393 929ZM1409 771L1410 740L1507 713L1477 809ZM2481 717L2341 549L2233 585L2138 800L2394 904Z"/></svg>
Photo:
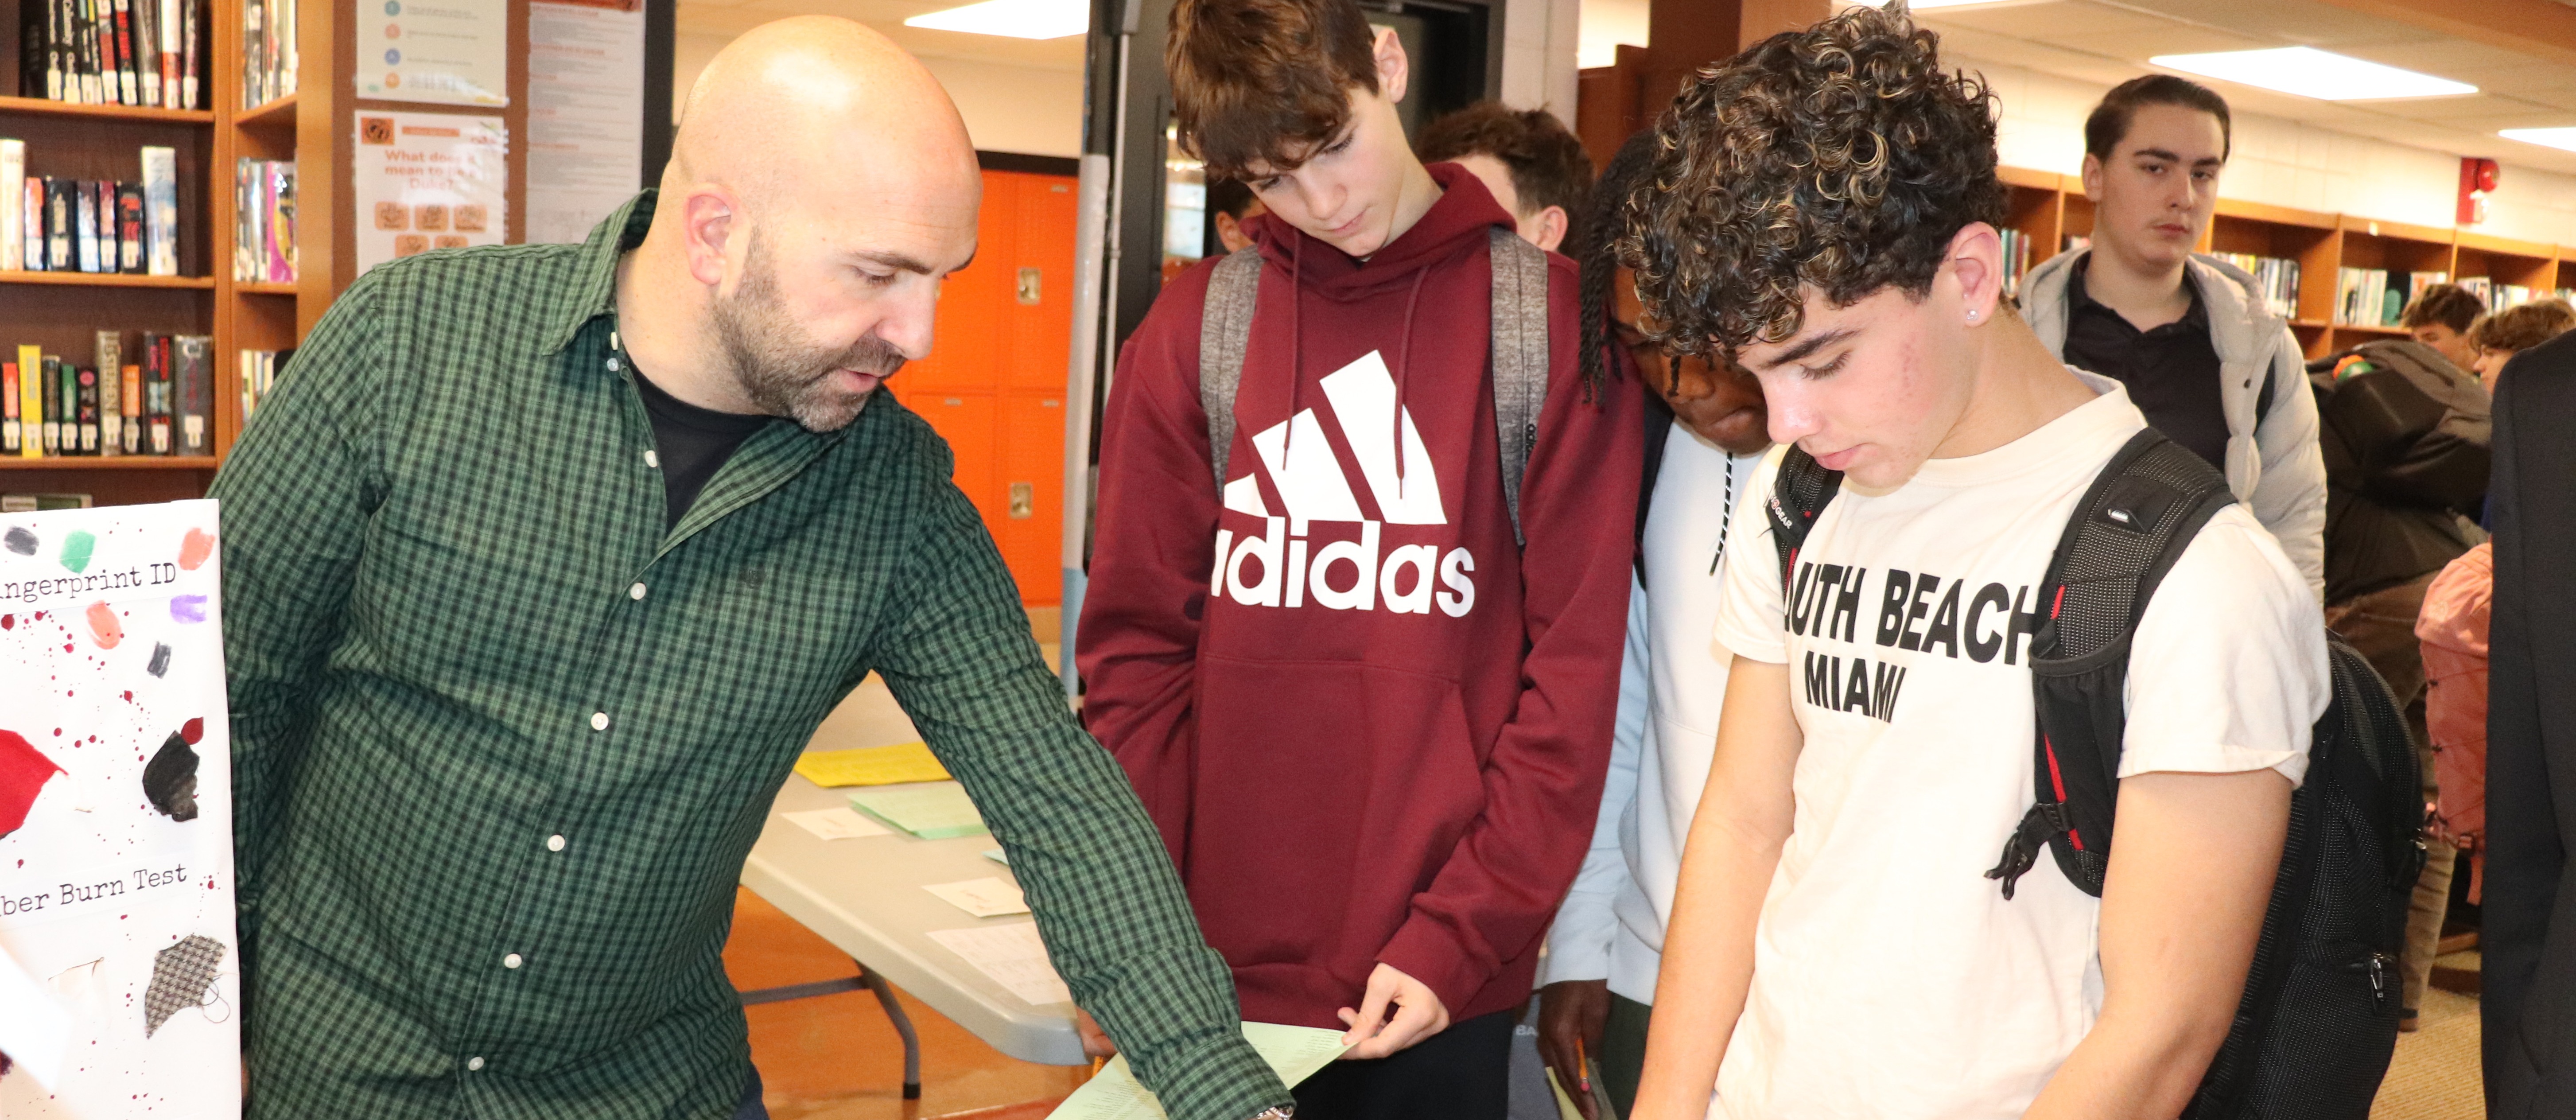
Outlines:
<svg viewBox="0 0 2576 1120"><path fill-rule="evenodd" d="M2128 729L2130 636L2200 525L2231 502L2228 481L2205 458L2154 427L2110 456L2076 502L2038 587L2045 608L2030 636L2038 803L1986 873L2004 881L2004 899L2040 842L2071 883L2102 893Z"/></svg>

